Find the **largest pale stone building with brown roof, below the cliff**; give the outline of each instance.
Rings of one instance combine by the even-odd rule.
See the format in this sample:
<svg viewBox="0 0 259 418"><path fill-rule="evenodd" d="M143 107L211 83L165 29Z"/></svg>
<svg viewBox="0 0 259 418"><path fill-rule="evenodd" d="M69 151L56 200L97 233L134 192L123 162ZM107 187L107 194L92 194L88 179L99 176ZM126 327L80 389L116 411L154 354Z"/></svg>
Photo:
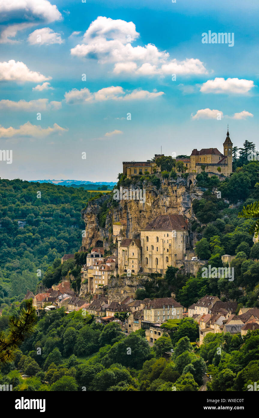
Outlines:
<svg viewBox="0 0 259 418"><path fill-rule="evenodd" d="M158 215L141 231L143 272L165 274L183 260L189 247L188 223L182 215Z"/></svg>

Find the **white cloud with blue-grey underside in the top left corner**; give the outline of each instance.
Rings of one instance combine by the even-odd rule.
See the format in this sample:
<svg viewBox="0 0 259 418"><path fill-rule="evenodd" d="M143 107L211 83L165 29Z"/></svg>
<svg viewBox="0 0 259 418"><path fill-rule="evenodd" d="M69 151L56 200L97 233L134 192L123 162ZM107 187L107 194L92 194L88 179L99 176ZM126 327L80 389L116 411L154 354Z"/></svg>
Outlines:
<svg viewBox="0 0 259 418"><path fill-rule="evenodd" d="M4 27L0 35L0 43L14 43L18 31L40 23L50 23L61 20L62 15L56 5L48 0L12 0L0 1L0 21L19 21L14 25Z"/></svg>

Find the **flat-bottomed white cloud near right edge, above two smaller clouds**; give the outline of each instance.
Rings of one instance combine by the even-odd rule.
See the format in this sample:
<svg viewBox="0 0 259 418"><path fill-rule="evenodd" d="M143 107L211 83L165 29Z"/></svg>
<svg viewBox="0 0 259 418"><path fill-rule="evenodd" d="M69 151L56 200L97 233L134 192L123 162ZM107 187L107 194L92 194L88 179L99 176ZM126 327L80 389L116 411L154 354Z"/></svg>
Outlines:
<svg viewBox="0 0 259 418"><path fill-rule="evenodd" d="M252 80L216 77L214 80L208 80L202 84L200 91L202 93L225 93L225 94L246 94L254 87Z"/></svg>

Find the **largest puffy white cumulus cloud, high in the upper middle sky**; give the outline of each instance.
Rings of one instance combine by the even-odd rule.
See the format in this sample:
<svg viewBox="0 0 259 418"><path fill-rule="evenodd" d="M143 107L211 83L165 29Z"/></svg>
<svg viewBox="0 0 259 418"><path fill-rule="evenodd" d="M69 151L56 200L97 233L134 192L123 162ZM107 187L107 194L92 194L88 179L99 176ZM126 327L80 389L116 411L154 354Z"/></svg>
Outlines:
<svg viewBox="0 0 259 418"><path fill-rule="evenodd" d="M113 63L115 74L122 72L153 76L166 74L206 74L206 68L199 59L178 61L170 59L169 53L159 51L152 43L146 46L132 46L139 33L133 22L113 20L98 16L83 37L83 43L70 50L78 57L97 59L99 63Z"/></svg>

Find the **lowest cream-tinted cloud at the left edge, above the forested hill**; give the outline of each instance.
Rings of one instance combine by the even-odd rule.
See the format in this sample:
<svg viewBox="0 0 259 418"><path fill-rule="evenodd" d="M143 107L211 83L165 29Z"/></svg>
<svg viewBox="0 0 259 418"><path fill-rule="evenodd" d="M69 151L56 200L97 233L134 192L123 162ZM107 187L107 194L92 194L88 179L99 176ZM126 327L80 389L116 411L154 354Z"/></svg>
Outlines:
<svg viewBox="0 0 259 418"><path fill-rule="evenodd" d="M26 122L24 125L21 125L18 129L10 126L9 128L4 128L0 125L0 138L12 138L14 136L32 136L32 137L45 137L51 133L61 133L67 131L68 129L62 128L61 126L54 123L53 127L42 128L41 126L32 125L30 122Z"/></svg>

